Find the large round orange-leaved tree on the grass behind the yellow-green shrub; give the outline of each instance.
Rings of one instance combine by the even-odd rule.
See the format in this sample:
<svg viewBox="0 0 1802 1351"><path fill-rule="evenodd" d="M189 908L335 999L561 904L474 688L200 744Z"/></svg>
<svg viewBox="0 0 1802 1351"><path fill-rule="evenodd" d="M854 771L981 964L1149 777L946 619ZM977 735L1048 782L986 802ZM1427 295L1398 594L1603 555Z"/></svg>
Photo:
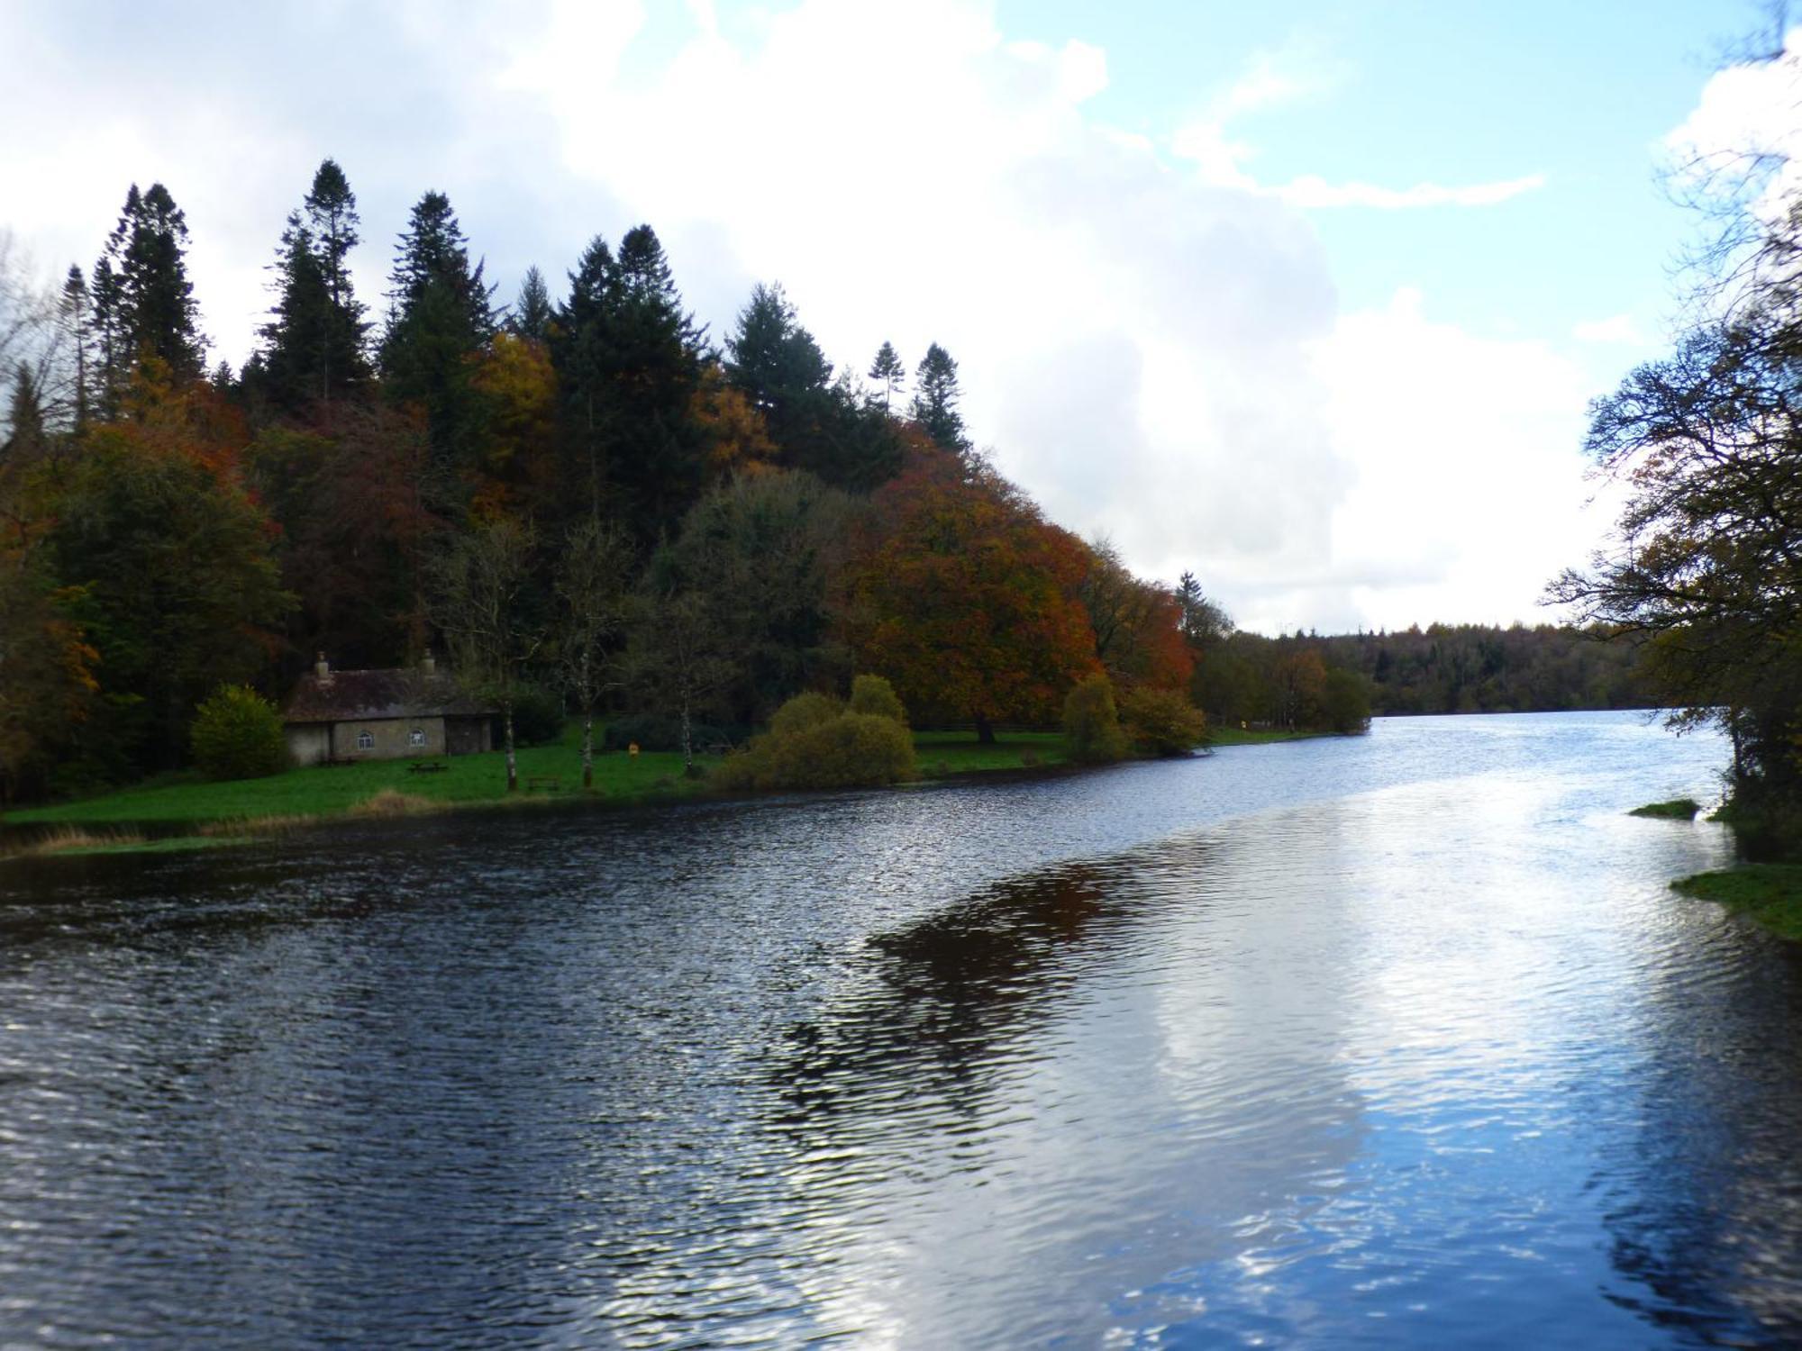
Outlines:
<svg viewBox="0 0 1802 1351"><path fill-rule="evenodd" d="M1054 722L1096 670L1079 587L1087 551L977 459L915 445L881 488L881 522L856 567L860 665L924 719Z"/></svg>

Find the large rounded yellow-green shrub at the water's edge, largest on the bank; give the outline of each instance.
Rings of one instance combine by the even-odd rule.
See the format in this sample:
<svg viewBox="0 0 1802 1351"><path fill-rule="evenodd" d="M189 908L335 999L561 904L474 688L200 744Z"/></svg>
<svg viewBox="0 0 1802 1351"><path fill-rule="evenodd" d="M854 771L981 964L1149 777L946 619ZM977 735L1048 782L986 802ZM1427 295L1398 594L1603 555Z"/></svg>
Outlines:
<svg viewBox="0 0 1802 1351"><path fill-rule="evenodd" d="M892 717L858 713L824 694L798 694L769 731L715 773L728 789L876 787L914 776L914 737Z"/></svg>

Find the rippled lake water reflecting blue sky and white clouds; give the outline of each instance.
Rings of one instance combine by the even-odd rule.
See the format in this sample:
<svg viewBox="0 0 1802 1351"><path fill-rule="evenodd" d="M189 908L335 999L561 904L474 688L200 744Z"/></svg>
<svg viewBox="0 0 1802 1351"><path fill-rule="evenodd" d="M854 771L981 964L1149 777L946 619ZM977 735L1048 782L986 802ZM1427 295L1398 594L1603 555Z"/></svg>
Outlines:
<svg viewBox="0 0 1802 1351"><path fill-rule="evenodd" d="M1631 713L0 865L0 1344L1802 1342Z"/></svg>

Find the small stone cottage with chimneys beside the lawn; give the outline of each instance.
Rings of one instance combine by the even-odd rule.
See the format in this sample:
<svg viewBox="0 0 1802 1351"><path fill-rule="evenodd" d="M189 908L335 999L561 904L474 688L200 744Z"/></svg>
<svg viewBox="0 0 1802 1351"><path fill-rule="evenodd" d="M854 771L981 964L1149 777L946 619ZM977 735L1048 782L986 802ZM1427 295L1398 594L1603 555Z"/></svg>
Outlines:
<svg viewBox="0 0 1802 1351"><path fill-rule="evenodd" d="M296 764L488 751L492 717L429 652L402 670L332 670L321 652L281 710Z"/></svg>

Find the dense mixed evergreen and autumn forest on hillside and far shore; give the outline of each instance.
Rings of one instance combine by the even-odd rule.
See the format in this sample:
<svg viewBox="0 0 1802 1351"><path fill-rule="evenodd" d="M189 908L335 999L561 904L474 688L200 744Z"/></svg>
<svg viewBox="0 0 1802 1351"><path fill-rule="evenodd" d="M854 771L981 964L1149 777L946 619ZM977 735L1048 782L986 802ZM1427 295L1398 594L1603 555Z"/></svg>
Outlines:
<svg viewBox="0 0 1802 1351"><path fill-rule="evenodd" d="M780 286L715 342L649 225L501 303L450 202L400 234L382 317L326 160L274 243L241 369L209 369L187 225L137 186L38 288L0 236L0 794L180 766L222 683L447 652L506 737L566 713L728 739L888 677L915 722L1056 722L1105 674L1213 717L1613 706L1633 652L1562 629L1267 639L1193 576L1135 576L971 443L959 366L836 366Z"/></svg>

